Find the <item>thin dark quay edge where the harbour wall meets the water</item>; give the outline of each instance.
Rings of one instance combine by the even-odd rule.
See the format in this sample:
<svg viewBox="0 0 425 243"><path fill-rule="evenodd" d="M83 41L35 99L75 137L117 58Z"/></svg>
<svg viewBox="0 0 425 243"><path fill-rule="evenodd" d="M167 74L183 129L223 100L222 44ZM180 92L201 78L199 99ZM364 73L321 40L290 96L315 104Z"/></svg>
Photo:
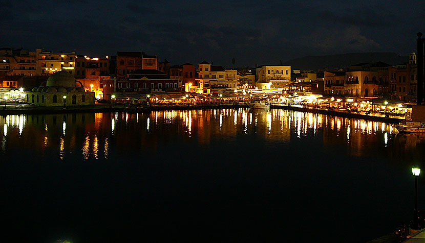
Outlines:
<svg viewBox="0 0 425 243"><path fill-rule="evenodd" d="M209 109L239 109L248 108L247 105L194 105L194 106L143 106L143 107L109 107L108 105L95 105L94 107L71 107L63 109L61 107L30 107L30 108L12 108L0 110L1 116L6 115L31 115L31 114L57 114L57 113L88 113L88 112L151 112L151 111L171 111L171 110L209 110ZM270 105L270 109L282 109L302 111L316 114L324 114L338 117L347 117L355 119L373 120L375 122L386 122L398 124L403 120L396 117L384 117L376 115L366 115L357 113L348 113L341 111L321 110L314 108L304 108L296 106Z"/></svg>

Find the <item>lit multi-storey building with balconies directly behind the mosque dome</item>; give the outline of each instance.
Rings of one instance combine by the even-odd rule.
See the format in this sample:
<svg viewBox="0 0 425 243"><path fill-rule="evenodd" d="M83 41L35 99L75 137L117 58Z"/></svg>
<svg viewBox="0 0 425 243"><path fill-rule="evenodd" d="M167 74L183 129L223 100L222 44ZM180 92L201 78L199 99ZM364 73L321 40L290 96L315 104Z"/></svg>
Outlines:
<svg viewBox="0 0 425 243"><path fill-rule="evenodd" d="M66 70L74 75L75 52L51 52L43 49L36 49L37 75L51 75L54 72Z"/></svg>

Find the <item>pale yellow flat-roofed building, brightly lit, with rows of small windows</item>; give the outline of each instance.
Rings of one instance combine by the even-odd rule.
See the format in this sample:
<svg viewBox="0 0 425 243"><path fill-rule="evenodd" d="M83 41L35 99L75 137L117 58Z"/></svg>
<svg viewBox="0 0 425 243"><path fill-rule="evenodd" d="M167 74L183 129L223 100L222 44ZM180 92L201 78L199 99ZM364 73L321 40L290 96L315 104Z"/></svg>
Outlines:
<svg viewBox="0 0 425 243"><path fill-rule="evenodd" d="M283 88L291 81L291 66L259 66L256 79L258 83L271 83L271 88Z"/></svg>

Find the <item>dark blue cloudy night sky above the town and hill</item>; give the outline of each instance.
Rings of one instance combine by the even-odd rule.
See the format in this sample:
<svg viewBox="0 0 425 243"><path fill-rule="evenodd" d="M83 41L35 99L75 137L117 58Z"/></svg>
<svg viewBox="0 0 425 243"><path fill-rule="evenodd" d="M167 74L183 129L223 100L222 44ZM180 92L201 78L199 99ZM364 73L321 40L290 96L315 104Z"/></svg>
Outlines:
<svg viewBox="0 0 425 243"><path fill-rule="evenodd" d="M174 64L236 66L416 51L423 1L0 0L0 47L102 57L144 51Z"/></svg>

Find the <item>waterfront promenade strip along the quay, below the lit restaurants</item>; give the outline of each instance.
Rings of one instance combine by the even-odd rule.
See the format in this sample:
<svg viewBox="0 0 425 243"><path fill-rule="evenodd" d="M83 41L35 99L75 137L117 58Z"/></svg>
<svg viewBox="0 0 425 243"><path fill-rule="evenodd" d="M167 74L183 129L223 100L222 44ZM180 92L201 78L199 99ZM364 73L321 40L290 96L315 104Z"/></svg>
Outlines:
<svg viewBox="0 0 425 243"><path fill-rule="evenodd" d="M110 104L96 104L94 106L72 106L64 109L63 107L40 107L29 104L8 105L6 109L0 109L0 115L15 115L15 114L54 114L54 113L79 113L79 112L149 112L149 111L162 111L162 110L197 110L197 109L238 109L248 108L247 105L242 104L207 104L207 105L174 105L174 106L114 106ZM312 107L303 107L301 105L271 105L271 109L295 110L302 112L311 112L332 116L341 116L355 119L374 120L377 122L388 122L398 124L401 120L405 119L404 116L385 117L381 113L366 112L348 112L346 110L329 110L329 109L316 109Z"/></svg>

